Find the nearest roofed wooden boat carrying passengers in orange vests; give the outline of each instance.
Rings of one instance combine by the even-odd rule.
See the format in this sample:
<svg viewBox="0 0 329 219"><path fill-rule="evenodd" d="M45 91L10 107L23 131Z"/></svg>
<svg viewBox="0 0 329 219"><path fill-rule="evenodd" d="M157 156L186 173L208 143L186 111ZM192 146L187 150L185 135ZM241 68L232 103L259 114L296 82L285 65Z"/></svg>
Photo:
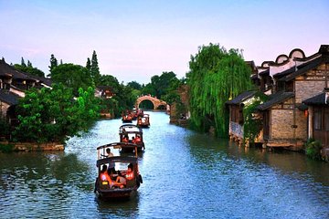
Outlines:
<svg viewBox="0 0 329 219"><path fill-rule="evenodd" d="M125 147L136 148L137 145L127 143ZM122 143L114 142L97 148L98 177L95 182L96 195L102 200L117 201L130 199L143 183L138 169L137 152L134 156L106 156L108 149L122 149ZM137 151L135 149L135 151ZM106 175L106 177L105 177ZM121 183L116 178L122 177Z"/></svg>

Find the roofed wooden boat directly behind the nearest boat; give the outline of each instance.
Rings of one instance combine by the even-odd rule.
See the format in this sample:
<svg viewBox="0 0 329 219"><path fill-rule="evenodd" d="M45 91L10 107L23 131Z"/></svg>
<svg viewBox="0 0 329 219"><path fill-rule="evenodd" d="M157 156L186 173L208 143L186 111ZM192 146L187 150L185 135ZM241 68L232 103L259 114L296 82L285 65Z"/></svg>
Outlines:
<svg viewBox="0 0 329 219"><path fill-rule="evenodd" d="M137 145L137 151L143 151L145 145L143 143L143 130L133 124L124 124L119 128L120 142L134 143ZM132 147L122 147L122 152L133 152Z"/></svg>

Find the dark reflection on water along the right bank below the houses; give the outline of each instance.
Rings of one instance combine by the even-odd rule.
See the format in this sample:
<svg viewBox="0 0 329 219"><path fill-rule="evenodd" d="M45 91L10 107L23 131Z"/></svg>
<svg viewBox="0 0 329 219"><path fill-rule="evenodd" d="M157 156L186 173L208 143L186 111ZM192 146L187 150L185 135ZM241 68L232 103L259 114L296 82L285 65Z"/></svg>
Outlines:
<svg viewBox="0 0 329 219"><path fill-rule="evenodd" d="M206 162L207 165L218 162L218 159L245 161L255 166L266 164L282 174L308 174L314 182L329 186L328 163L311 160L302 153L239 147L227 139L218 139L207 134L190 135L187 141L191 146L191 154L194 154L198 162Z"/></svg>

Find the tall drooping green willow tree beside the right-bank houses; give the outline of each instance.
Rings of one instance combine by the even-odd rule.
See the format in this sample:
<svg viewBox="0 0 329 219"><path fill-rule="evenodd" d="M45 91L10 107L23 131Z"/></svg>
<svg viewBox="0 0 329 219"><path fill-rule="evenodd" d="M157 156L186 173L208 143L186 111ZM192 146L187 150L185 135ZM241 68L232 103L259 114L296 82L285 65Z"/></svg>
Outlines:
<svg viewBox="0 0 329 219"><path fill-rule="evenodd" d="M186 74L190 87L190 123L196 130L214 127L219 137L228 136L228 110L225 102L251 89L251 69L238 49L227 51L219 45L198 47L191 56Z"/></svg>

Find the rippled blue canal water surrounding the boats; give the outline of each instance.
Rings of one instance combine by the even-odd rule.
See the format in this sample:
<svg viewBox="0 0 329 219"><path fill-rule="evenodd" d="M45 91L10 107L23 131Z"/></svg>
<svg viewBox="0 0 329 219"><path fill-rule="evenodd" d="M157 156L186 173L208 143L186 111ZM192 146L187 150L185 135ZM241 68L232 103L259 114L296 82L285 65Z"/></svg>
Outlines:
<svg viewBox="0 0 329 219"><path fill-rule="evenodd" d="M246 150L149 113L132 200L93 193L95 149L118 141L122 125L100 120L65 151L0 153L0 218L329 218L329 163Z"/></svg>

